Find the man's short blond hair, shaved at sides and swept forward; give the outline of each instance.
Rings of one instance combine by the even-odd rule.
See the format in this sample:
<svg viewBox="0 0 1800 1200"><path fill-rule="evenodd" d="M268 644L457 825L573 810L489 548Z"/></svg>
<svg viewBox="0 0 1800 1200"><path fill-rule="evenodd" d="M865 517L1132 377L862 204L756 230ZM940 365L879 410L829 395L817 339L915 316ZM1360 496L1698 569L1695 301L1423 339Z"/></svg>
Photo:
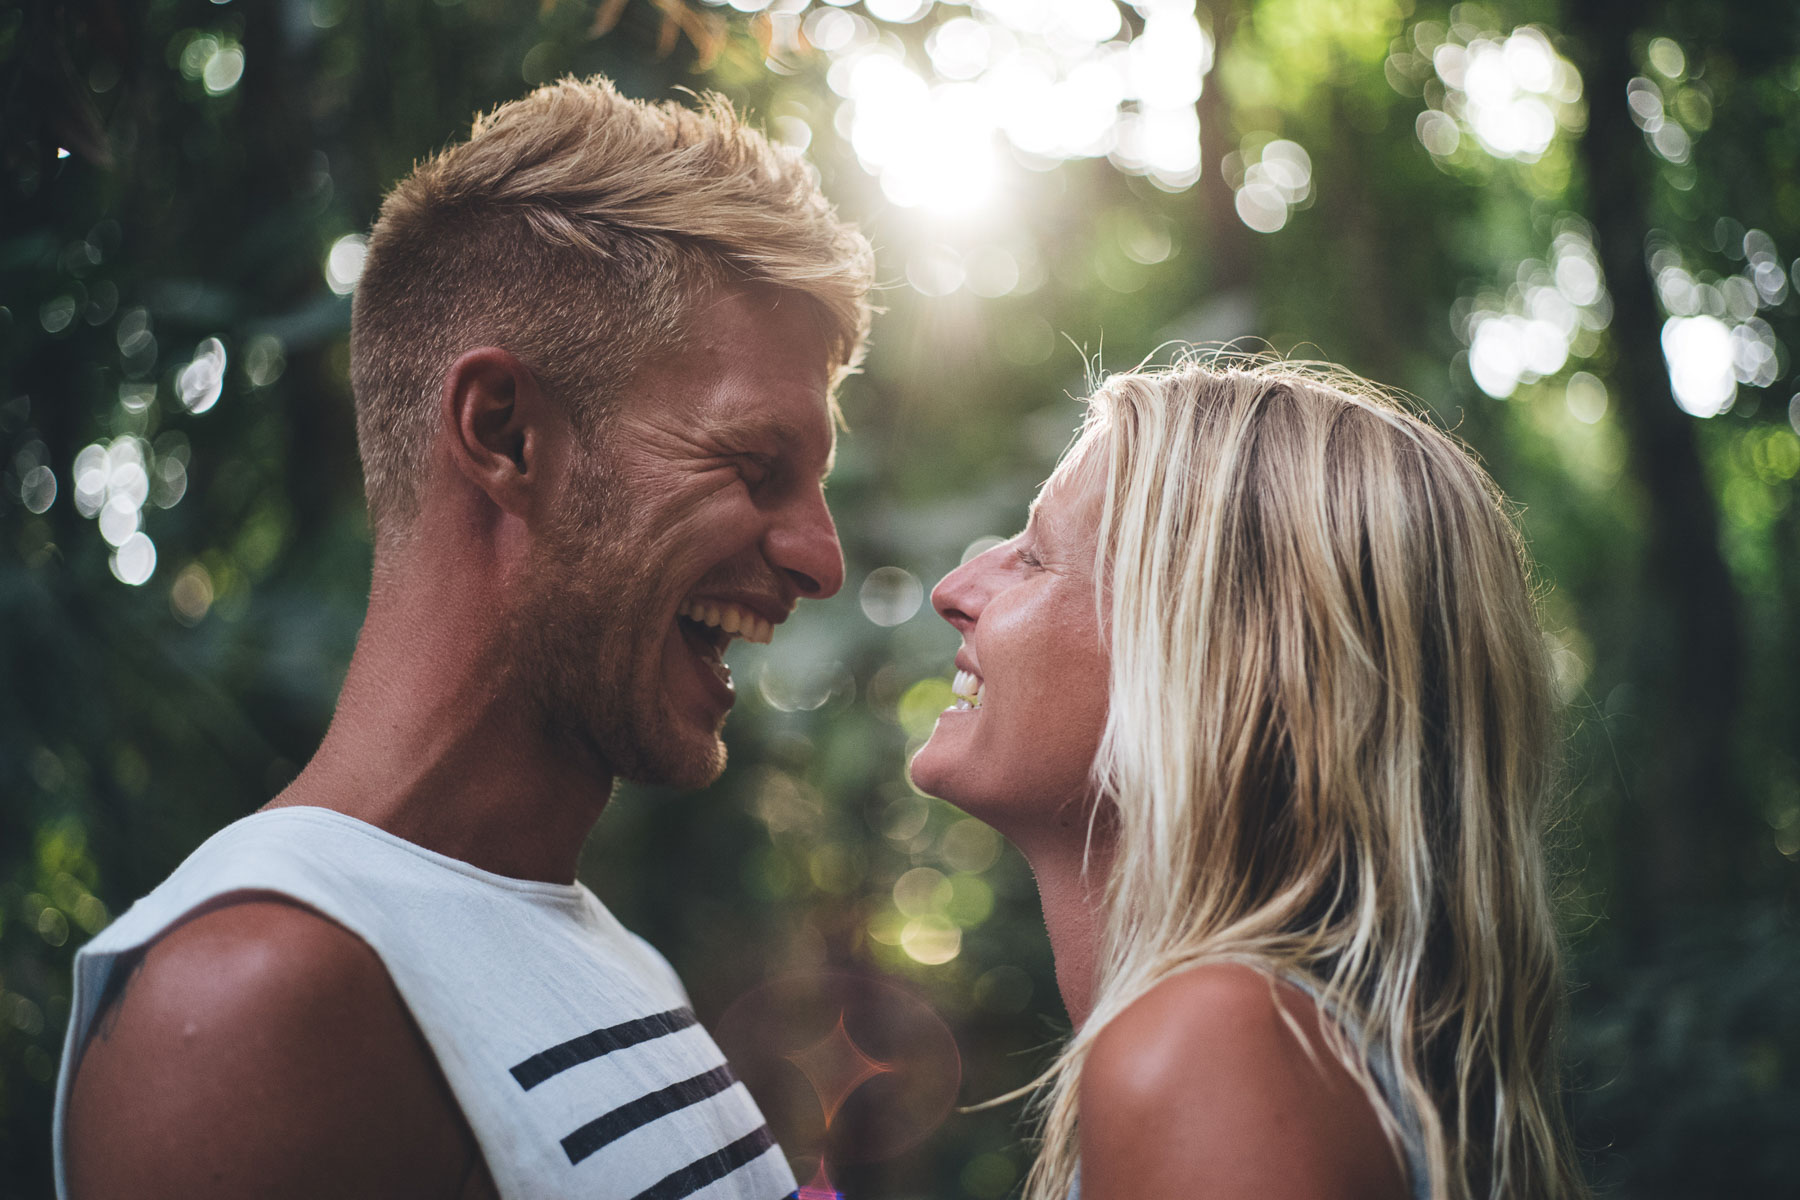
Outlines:
<svg viewBox="0 0 1800 1200"><path fill-rule="evenodd" d="M389 193L369 237L351 385L376 545L418 515L457 354L509 349L590 434L639 367L704 335L697 302L720 288L812 299L841 378L871 281L799 153L720 95L652 104L594 77L499 106Z"/></svg>

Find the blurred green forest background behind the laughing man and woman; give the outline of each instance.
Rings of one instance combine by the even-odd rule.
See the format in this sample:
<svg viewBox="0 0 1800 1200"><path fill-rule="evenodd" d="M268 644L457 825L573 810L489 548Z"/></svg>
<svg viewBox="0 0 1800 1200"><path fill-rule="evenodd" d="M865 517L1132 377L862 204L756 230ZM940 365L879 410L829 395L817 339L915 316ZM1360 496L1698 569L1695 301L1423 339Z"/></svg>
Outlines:
<svg viewBox="0 0 1800 1200"><path fill-rule="evenodd" d="M369 581L342 239L472 113L565 72L644 97L720 88L810 140L886 281L832 480L851 583L772 648L734 651L725 777L702 795L626 790L583 858L702 1016L785 972L862 964L949 1020L965 1101L1044 1063L1066 1018L1024 864L902 770L956 644L920 596L1022 522L1093 360L1253 335L1408 389L1521 506L1570 703L1557 851L1591 1177L1629 1196L1791 1191L1800 13L1213 0L1188 18L1211 67L1197 180L1058 166L995 137L995 198L940 218L859 160L819 49L846 27L803 13L842 9L918 67L940 25L1026 9L742 11L758 7L0 13L7 1193L49 1195L76 946L279 790L329 716ZM1152 7L1120 5L1116 36ZM1483 115L1507 101L1494 63L1543 112ZM1532 322L1562 342L1546 349ZM1705 376L1679 396L1670 329L1732 338L1712 360L1672 342ZM1719 380L1726 412L1678 407L1712 403ZM148 542L108 545L108 520L122 543L131 513L108 518L106 488L135 489ZM855 1196L990 1200L1015 1189L1022 1135L1015 1106L952 1115L918 1150L835 1178Z"/></svg>

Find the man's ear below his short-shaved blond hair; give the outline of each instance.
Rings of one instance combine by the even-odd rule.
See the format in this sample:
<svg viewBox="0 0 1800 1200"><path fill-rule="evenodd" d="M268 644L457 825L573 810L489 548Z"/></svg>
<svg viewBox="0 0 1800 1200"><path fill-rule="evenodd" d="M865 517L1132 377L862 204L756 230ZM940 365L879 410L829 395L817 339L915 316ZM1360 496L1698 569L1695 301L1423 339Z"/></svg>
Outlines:
<svg viewBox="0 0 1800 1200"><path fill-rule="evenodd" d="M450 363L439 399L457 470L502 511L524 516L544 486L558 416L511 351L482 345Z"/></svg>

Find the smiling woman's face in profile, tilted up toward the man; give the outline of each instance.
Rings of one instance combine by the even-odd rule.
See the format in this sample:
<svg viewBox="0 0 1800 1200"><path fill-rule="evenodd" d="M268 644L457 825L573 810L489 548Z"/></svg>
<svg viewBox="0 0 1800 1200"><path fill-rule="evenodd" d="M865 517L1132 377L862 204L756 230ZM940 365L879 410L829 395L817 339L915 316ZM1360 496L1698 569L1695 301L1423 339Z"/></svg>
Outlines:
<svg viewBox="0 0 1800 1200"><path fill-rule="evenodd" d="M1105 468L1087 450L1044 484L1024 533L931 594L963 635L959 698L913 757L913 783L1004 833L1087 795L1107 720L1093 574Z"/></svg>

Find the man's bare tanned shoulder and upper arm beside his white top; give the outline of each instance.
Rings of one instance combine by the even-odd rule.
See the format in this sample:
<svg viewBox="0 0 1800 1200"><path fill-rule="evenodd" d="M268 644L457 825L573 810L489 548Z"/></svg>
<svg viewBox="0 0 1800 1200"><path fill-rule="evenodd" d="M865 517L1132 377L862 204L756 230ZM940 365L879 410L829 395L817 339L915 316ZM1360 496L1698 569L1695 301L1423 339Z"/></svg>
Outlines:
<svg viewBox="0 0 1800 1200"><path fill-rule="evenodd" d="M245 900L126 970L70 1094L76 1200L488 1191L405 1002L342 927Z"/></svg>

